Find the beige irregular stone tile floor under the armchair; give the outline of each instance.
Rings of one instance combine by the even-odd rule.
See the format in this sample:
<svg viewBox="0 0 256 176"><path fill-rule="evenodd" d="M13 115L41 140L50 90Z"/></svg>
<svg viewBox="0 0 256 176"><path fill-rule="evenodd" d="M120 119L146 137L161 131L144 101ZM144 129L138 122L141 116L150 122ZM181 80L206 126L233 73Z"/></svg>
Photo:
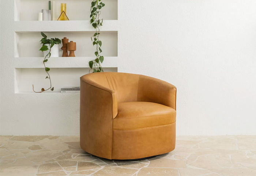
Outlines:
<svg viewBox="0 0 256 176"><path fill-rule="evenodd" d="M256 176L256 136L177 137L149 160L91 156L79 137L0 136L0 176Z"/></svg>

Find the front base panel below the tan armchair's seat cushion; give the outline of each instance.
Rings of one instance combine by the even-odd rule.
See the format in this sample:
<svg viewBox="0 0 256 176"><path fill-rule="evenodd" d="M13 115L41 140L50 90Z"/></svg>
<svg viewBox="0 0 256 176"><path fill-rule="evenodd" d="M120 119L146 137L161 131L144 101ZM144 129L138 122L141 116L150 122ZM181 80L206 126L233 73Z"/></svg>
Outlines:
<svg viewBox="0 0 256 176"><path fill-rule="evenodd" d="M175 148L176 122L134 130L113 130L112 158L133 160L171 152Z"/></svg>

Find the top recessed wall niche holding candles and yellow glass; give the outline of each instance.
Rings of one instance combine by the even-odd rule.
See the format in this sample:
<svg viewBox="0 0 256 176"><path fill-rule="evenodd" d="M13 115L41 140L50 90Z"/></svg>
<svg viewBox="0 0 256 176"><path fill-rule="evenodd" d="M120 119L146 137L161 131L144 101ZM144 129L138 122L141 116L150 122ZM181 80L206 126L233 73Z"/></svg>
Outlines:
<svg viewBox="0 0 256 176"><path fill-rule="evenodd" d="M15 0L15 21L37 21L38 12L48 9L48 0ZM61 3L67 3L69 20L89 20L91 0L55 0L55 20L60 16ZM101 9L104 20L117 20L117 0L105 0Z"/></svg>

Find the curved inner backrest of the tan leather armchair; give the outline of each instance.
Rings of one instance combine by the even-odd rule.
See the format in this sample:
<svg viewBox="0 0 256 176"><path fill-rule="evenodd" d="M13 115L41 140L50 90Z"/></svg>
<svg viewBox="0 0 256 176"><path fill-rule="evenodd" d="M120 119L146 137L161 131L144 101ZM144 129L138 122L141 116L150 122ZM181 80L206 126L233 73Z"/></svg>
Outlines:
<svg viewBox="0 0 256 176"><path fill-rule="evenodd" d="M136 102L138 96L139 74L99 72L86 74L83 77L112 89L117 94L117 102Z"/></svg>

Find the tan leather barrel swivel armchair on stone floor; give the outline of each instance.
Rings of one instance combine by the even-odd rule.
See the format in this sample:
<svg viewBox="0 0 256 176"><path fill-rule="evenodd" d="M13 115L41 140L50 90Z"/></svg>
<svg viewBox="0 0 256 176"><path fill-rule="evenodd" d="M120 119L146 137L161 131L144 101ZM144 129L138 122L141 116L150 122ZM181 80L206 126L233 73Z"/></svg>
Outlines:
<svg viewBox="0 0 256 176"><path fill-rule="evenodd" d="M131 160L175 148L176 87L129 73L80 78L80 146L98 157Z"/></svg>

